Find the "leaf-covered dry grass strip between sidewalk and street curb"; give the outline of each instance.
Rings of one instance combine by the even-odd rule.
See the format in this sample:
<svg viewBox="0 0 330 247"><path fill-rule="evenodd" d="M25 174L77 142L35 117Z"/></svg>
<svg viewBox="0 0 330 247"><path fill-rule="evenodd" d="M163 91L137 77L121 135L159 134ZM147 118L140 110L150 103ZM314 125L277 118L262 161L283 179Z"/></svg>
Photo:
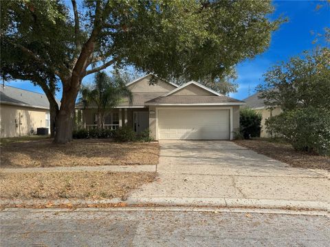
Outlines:
<svg viewBox="0 0 330 247"><path fill-rule="evenodd" d="M118 198L155 179L153 172L0 173L0 198Z"/></svg>

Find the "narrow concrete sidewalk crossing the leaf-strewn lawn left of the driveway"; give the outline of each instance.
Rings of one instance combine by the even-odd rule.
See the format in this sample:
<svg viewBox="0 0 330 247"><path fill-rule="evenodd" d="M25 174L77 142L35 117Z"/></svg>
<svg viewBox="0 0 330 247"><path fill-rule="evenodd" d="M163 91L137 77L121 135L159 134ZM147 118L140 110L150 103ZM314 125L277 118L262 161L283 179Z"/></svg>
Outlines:
<svg viewBox="0 0 330 247"><path fill-rule="evenodd" d="M156 165L99 165L76 167L1 168L0 172L155 172Z"/></svg>

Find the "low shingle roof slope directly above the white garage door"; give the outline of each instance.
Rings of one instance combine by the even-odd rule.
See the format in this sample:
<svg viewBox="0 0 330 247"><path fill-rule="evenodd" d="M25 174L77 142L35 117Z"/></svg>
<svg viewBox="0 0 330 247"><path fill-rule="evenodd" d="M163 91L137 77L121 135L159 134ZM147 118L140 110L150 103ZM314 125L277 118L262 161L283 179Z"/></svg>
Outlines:
<svg viewBox="0 0 330 247"><path fill-rule="evenodd" d="M222 104L222 103L241 103L241 100L233 99L227 96L208 96L208 95L168 95L166 97L157 97L146 102L146 105L157 104Z"/></svg>

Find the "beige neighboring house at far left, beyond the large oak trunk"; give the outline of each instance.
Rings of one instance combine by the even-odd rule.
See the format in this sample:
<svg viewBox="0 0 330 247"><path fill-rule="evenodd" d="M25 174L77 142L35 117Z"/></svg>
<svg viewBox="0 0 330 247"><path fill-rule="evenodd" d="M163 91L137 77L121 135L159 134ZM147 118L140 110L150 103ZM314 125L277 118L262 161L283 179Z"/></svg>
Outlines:
<svg viewBox="0 0 330 247"><path fill-rule="evenodd" d="M1 137L36 134L40 127L50 128L50 103L46 95L1 84Z"/></svg>

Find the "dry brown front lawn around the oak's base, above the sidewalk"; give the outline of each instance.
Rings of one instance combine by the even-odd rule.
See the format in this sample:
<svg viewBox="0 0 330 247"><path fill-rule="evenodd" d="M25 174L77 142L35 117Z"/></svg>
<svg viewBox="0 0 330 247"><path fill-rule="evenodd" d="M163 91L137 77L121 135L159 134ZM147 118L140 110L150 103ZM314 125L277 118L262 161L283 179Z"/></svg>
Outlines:
<svg viewBox="0 0 330 247"><path fill-rule="evenodd" d="M1 147L1 167L155 165L158 143L115 143L107 139L53 144L51 139Z"/></svg>

